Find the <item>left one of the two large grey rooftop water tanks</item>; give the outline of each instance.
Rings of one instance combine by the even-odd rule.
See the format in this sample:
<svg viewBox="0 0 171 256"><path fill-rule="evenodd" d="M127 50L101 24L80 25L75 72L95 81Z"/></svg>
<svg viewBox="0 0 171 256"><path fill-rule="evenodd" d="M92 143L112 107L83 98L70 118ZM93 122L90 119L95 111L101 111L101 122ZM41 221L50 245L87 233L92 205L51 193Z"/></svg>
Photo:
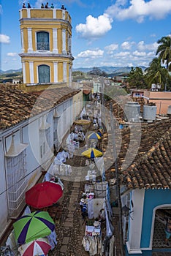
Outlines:
<svg viewBox="0 0 171 256"><path fill-rule="evenodd" d="M138 102L127 102L124 107L124 114L127 121L140 121L140 105Z"/></svg>

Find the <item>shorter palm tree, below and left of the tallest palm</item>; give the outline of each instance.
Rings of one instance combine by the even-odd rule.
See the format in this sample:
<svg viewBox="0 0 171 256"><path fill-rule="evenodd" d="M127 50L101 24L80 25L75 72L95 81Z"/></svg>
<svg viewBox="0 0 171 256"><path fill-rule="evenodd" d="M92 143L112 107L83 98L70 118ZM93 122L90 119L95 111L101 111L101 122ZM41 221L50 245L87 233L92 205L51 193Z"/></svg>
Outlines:
<svg viewBox="0 0 171 256"><path fill-rule="evenodd" d="M150 62L150 67L145 69L145 80L147 80L148 84L159 83L161 84L161 89L164 89L168 76L169 72L165 67L161 66L159 58L154 58Z"/></svg>

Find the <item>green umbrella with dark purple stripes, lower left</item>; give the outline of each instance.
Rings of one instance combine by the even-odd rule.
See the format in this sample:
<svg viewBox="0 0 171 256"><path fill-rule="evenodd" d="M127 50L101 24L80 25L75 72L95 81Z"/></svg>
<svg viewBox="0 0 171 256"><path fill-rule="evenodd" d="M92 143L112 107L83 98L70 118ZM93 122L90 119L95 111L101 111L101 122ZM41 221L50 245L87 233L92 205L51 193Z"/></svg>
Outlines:
<svg viewBox="0 0 171 256"><path fill-rule="evenodd" d="M34 211L20 217L14 224L15 239L19 244L50 235L55 223L47 211Z"/></svg>

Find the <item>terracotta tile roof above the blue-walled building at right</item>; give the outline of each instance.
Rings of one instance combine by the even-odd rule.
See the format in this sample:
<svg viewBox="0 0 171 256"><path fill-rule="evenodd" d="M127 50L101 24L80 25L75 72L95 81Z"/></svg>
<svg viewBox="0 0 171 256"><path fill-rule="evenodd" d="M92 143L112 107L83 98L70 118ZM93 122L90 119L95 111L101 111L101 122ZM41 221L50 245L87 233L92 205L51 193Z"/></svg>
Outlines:
<svg viewBox="0 0 171 256"><path fill-rule="evenodd" d="M135 138L138 136L140 146L136 144ZM171 189L171 118L151 124L137 124L133 131L130 127L121 129L121 136L117 139L121 141L117 158L121 184L129 189ZM126 158L126 154L134 154L128 166L126 162L129 163L129 157ZM115 169L114 164L111 169Z"/></svg>

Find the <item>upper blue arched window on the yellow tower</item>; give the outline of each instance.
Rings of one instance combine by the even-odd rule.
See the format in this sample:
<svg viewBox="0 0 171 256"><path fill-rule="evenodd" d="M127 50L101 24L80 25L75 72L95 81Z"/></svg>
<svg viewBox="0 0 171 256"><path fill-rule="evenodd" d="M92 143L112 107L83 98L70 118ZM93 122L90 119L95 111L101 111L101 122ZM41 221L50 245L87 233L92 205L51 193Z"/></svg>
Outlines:
<svg viewBox="0 0 171 256"><path fill-rule="evenodd" d="M50 50L49 33L44 31L37 32L37 50Z"/></svg>

